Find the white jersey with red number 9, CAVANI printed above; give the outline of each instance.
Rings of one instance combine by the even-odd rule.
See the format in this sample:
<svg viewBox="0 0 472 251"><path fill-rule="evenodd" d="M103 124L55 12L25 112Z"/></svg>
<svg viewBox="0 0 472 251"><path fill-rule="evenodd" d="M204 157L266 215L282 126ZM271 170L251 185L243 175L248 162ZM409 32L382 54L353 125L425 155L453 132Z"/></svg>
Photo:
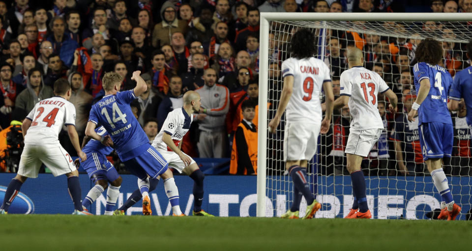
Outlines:
<svg viewBox="0 0 472 251"><path fill-rule="evenodd" d="M282 63L282 76L294 76L293 94L287 105L288 122L321 123L320 93L323 83L331 81L329 68L315 57L291 57Z"/></svg>

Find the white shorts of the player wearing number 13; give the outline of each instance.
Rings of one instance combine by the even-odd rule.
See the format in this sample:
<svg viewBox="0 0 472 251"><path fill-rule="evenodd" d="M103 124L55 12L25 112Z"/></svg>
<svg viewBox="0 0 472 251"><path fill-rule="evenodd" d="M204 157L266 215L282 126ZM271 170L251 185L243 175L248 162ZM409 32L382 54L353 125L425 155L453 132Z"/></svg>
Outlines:
<svg viewBox="0 0 472 251"><path fill-rule="evenodd" d="M383 129L367 129L349 131L345 153L367 157L374 144L379 140Z"/></svg>

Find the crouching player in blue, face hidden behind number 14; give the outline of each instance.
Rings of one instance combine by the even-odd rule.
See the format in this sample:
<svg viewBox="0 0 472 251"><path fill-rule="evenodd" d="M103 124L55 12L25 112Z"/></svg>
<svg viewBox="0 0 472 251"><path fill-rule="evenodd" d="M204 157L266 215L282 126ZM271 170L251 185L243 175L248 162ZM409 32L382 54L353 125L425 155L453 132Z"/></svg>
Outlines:
<svg viewBox="0 0 472 251"><path fill-rule="evenodd" d="M95 132L99 136L104 137L104 139L108 136L108 132L103 126L95 129ZM117 169L106 157L106 155L113 151L113 148L102 144L98 140L85 137L82 143L82 151L89 156L82 163L82 167L89 174L90 180L95 183L95 186L90 189L85 199L82 200L82 206L84 209L88 208L108 187L105 215L113 215L113 210L117 204L119 188L121 187L121 176L119 176ZM77 167L80 165L79 159L75 161L75 165Z"/></svg>

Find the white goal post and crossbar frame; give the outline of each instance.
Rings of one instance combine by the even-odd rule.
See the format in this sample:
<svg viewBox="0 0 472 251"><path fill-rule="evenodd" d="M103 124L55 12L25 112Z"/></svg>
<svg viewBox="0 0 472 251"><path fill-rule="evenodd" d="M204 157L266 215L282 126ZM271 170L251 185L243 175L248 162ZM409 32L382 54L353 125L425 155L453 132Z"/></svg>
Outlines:
<svg viewBox="0 0 472 251"><path fill-rule="evenodd" d="M291 25L299 25L300 27L308 27L308 22L317 22L320 28L330 21L394 21L394 22L455 22L455 21L471 21L470 13L266 13L260 15L260 61L259 61L259 128L258 128L258 162L257 162L257 217L266 217L269 210L266 210L266 203L273 203L271 199L266 197L267 189L267 124L272 117L268 117L268 99L269 91L269 31L270 22L287 22ZM298 23L295 23L298 22ZM304 23L306 22L306 23ZM343 29L350 29L349 24L343 26ZM352 24L352 23L351 23ZM328 28L328 26L325 26ZM355 28L353 29L355 30ZM458 36L461 34L458 34ZM427 35L421 34L424 38ZM434 37L434 36L433 36ZM465 36L461 40L470 39ZM323 39L325 42L325 39ZM324 53L323 53L324 56ZM282 121L281 123L284 123ZM331 126L333 124L331 123ZM277 149L282 151L282 149ZM319 154L317 152L317 154ZM285 202L284 202L285 203Z"/></svg>

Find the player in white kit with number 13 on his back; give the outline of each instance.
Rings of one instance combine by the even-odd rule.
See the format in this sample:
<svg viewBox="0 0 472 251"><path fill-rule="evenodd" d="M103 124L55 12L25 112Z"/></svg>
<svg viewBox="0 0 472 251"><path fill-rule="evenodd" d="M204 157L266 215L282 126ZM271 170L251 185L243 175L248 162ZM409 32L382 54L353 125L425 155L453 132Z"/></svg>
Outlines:
<svg viewBox="0 0 472 251"><path fill-rule="evenodd" d="M361 50L355 47L348 50L347 61L349 69L341 74L340 97L334 101L334 109L341 109L347 104L353 118L345 153L353 183L354 204L346 218L370 219L372 214L367 206L365 179L360 164L383 130L382 118L377 109L377 94L384 93L388 98L390 112L397 111L397 96L379 74L363 67Z"/></svg>

